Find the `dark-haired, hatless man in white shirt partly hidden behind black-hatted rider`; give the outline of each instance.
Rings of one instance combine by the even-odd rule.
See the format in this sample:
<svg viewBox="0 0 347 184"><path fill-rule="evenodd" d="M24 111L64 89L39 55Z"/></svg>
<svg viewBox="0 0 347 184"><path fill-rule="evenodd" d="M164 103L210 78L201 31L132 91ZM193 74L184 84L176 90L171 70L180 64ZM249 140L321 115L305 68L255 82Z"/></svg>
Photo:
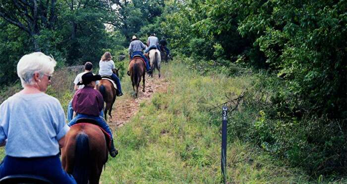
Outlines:
<svg viewBox="0 0 347 184"><path fill-rule="evenodd" d="M80 81L82 81L82 75L85 74L85 73L87 73L87 72L92 72L92 70L93 70L93 63L91 63L91 62L86 62L86 63L84 64L84 72L79 73L79 74L76 76L75 80L73 81L73 84L74 84L73 89L74 89L75 91L80 90L80 89L82 89L82 88L84 87L84 85L79 85L79 86L77 86L77 84L78 84ZM98 85L99 85L99 81L96 81L96 85L95 85L95 86L97 87ZM104 116L103 110L100 112L100 116ZM71 99L71 100L69 101L68 105L67 105L67 121L70 122L70 121L72 120L72 118L73 118L73 109L72 109L72 99Z"/></svg>

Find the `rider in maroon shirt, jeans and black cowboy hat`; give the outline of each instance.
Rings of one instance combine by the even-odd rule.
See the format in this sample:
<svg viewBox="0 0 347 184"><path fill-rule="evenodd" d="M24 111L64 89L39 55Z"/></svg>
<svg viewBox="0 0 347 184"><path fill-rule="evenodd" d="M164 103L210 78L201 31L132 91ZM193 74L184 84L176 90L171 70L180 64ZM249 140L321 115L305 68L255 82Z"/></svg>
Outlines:
<svg viewBox="0 0 347 184"><path fill-rule="evenodd" d="M68 125L71 127L80 118L90 118L96 120L98 125L104 129L111 137L110 155L116 157L118 151L115 148L112 131L106 121L100 116L100 111L104 108L103 95L95 90L95 82L101 80L100 75L93 75L88 72L82 75L82 82L77 85L84 85L84 88L77 90L73 95L72 108L77 113Z"/></svg>

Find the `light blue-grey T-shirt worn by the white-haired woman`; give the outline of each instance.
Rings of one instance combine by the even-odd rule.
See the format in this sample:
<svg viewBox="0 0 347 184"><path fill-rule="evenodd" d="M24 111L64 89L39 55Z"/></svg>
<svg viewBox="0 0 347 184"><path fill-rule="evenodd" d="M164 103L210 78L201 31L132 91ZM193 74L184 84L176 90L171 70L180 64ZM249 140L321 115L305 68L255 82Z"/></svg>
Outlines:
<svg viewBox="0 0 347 184"><path fill-rule="evenodd" d="M57 98L46 93L16 93L0 105L0 142L13 157L57 155L58 140L69 126Z"/></svg>

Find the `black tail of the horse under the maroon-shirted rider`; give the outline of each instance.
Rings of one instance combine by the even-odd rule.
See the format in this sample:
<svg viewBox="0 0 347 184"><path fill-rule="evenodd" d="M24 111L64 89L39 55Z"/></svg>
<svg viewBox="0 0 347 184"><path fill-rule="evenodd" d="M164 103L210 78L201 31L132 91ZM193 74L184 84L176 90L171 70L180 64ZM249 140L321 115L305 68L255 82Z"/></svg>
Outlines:
<svg viewBox="0 0 347 184"><path fill-rule="evenodd" d="M80 133L76 136L75 163L72 176L77 184L88 184L89 175L89 141L88 136Z"/></svg>

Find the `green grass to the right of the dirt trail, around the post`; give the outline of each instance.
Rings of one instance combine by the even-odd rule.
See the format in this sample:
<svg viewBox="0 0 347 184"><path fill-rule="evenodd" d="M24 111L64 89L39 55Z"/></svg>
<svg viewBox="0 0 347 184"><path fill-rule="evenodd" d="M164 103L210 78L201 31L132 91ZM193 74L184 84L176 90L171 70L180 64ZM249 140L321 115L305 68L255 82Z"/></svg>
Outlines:
<svg viewBox="0 0 347 184"><path fill-rule="evenodd" d="M225 92L238 95L256 79L204 77L180 63L163 65L162 72L170 82L168 92L155 93L129 123L115 131L119 155L109 159L103 184L221 182L220 115L208 110L225 100ZM125 78L125 91L127 83ZM239 140L228 143L227 162L231 183L307 180L252 143Z"/></svg>

